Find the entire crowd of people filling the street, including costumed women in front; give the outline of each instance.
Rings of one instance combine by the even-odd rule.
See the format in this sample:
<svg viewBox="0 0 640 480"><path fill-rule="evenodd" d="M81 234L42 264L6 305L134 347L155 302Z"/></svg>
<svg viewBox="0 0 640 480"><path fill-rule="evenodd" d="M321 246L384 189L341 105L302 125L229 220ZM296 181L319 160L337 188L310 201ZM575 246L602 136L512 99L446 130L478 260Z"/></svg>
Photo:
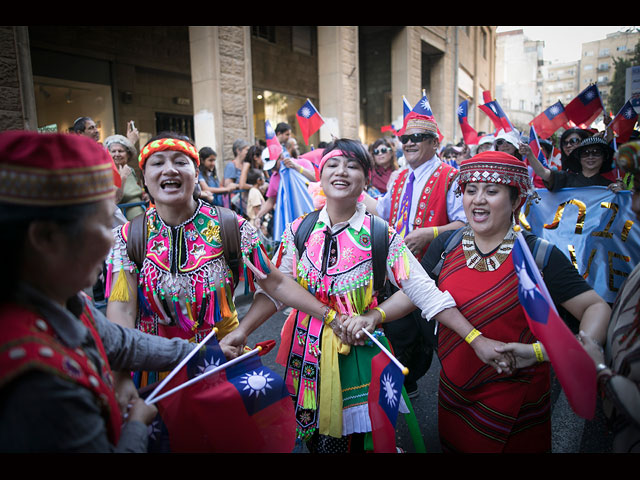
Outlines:
<svg viewBox="0 0 640 480"><path fill-rule="evenodd" d="M552 365L518 299L515 226L536 188L594 185L633 190L640 220L639 142L567 129L550 166L515 131L445 145L433 117L411 112L395 136L305 154L281 123L278 158L240 139L219 172L212 148L175 132L137 145L130 122L100 145L87 117L73 131L0 134L1 242L14 252L0 288L0 451L146 451L157 409L140 389L214 327L233 359L291 307L277 361L309 452L371 447L378 350L363 329L409 367L408 398L436 354L442 451L551 452ZM541 144L549 158L552 139ZM274 242L281 168L308 182L316 209ZM540 265L593 359L614 451L640 451L639 268L610 305L557 246ZM240 280L253 290L243 318Z"/></svg>

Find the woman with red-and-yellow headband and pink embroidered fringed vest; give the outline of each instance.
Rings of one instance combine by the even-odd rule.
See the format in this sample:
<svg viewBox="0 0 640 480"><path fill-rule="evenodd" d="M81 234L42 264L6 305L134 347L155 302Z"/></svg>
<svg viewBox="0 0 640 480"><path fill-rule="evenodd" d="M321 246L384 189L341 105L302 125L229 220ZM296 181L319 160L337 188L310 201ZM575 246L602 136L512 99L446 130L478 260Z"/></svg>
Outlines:
<svg viewBox="0 0 640 480"><path fill-rule="evenodd" d="M239 265L244 267L248 288L254 288L255 276L258 280L275 277L268 284L273 285L270 293L283 299L290 295L289 302L307 301L302 305L322 315L320 302L310 295L300 296L302 288L269 267L249 222L194 197L199 161L194 146L174 134L160 134L140 152L140 169L153 206L146 212L142 241L133 222L114 229L115 244L107 258L107 317L154 335L195 342L215 325L218 338L223 338L238 326L230 265L234 259L223 244L227 236L238 233ZM230 223L222 222L225 212L231 214ZM141 246L143 258L132 258L136 245ZM227 346L223 350L227 356L234 355ZM140 386L162 377L158 372L138 375Z"/></svg>

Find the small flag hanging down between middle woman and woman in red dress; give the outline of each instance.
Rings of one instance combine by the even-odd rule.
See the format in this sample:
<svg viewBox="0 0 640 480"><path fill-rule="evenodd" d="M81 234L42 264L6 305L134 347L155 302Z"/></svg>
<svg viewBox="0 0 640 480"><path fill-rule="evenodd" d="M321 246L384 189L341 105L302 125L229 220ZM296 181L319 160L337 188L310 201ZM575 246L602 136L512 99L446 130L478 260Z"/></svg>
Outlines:
<svg viewBox="0 0 640 480"><path fill-rule="evenodd" d="M402 398L404 373L385 352L371 360L369 386L369 417L373 450L376 453L396 453L396 421Z"/></svg>

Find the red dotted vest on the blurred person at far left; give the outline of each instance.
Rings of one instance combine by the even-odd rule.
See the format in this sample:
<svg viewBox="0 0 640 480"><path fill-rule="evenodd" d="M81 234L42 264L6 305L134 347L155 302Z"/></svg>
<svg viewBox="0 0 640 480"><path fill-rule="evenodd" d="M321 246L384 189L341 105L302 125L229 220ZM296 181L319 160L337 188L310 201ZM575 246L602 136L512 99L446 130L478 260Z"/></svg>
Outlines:
<svg viewBox="0 0 640 480"><path fill-rule="evenodd" d="M113 391L113 375L88 306L80 316L103 359L102 375L82 349L71 349L56 336L45 319L27 308L6 304L0 308L0 388L31 370L51 372L90 390L107 425L109 440L120 438L122 419ZM47 401L42 399L42 401Z"/></svg>

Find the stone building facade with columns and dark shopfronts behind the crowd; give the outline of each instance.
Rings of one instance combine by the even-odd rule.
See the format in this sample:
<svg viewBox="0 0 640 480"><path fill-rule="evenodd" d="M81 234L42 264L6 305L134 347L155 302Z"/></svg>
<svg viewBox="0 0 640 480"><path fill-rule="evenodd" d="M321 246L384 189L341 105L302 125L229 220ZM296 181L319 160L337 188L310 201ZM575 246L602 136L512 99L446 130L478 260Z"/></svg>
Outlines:
<svg viewBox="0 0 640 480"><path fill-rule="evenodd" d="M141 142L161 129L211 146L220 164L238 138L264 139L264 121L287 121L306 99L325 125L303 150L332 136L364 142L399 126L402 97L426 92L446 141L458 141L456 110L469 99L470 123L492 91L492 26L33 26L0 27L0 128L67 131L97 117L102 139Z"/></svg>

